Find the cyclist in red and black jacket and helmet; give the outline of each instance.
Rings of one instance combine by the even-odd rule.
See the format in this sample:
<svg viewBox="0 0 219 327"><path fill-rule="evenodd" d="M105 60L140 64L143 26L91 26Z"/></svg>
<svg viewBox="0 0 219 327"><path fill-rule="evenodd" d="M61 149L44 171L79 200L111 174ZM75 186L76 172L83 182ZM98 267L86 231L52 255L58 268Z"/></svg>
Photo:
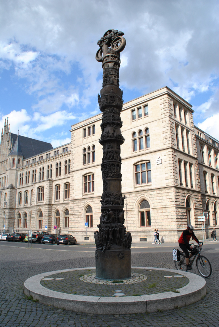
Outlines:
<svg viewBox="0 0 219 327"><path fill-rule="evenodd" d="M192 267L189 264L189 259L192 258L192 256L195 254L195 251L194 251L192 245L189 244L191 237L193 240L195 240L196 243L198 243L198 244L200 243L199 240L197 239L197 237L195 236L193 229L194 228L192 225L187 225L187 229L185 229L182 232L182 234L179 238L179 246L186 255L186 271L192 269ZM191 253L189 253L188 250L190 250Z"/></svg>

